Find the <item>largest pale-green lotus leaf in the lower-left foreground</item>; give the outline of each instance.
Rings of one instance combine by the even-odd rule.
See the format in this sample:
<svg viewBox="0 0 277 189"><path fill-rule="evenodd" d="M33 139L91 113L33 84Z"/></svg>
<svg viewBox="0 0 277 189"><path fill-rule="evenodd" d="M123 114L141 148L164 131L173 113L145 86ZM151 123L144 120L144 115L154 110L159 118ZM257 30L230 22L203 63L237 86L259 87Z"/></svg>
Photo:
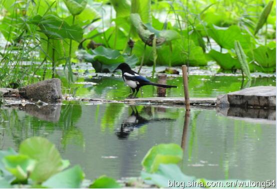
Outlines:
<svg viewBox="0 0 277 189"><path fill-rule="evenodd" d="M42 137L25 139L19 146L19 153L27 155L37 161L30 174L30 178L35 183L45 181L69 165L68 161L61 159L55 145Z"/></svg>

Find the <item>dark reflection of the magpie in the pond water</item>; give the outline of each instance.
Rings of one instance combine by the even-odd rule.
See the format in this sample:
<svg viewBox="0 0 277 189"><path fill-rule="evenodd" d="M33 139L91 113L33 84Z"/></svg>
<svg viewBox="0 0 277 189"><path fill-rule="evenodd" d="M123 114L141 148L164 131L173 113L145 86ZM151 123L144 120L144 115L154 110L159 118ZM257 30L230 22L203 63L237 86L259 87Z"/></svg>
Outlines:
<svg viewBox="0 0 277 189"><path fill-rule="evenodd" d="M115 134L118 137L118 139L127 139L127 137L132 131L140 128L143 125L147 125L150 122L175 121L175 119L170 119L170 118L145 119L139 115L135 106L130 106L130 107L132 110L131 114L126 119L123 120L123 122L121 123L120 130L115 131ZM148 107L143 107L143 109L144 108L148 108ZM159 109L160 108L157 108L157 110ZM146 112L147 112L147 109L146 109Z"/></svg>

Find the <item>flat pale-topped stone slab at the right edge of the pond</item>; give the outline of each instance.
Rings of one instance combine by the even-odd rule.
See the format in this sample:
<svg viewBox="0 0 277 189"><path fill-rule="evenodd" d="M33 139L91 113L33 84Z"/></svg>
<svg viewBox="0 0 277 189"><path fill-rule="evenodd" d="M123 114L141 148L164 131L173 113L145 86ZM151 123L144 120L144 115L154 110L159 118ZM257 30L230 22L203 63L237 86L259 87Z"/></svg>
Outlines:
<svg viewBox="0 0 277 189"><path fill-rule="evenodd" d="M230 106L276 108L276 88L258 86L227 94Z"/></svg>

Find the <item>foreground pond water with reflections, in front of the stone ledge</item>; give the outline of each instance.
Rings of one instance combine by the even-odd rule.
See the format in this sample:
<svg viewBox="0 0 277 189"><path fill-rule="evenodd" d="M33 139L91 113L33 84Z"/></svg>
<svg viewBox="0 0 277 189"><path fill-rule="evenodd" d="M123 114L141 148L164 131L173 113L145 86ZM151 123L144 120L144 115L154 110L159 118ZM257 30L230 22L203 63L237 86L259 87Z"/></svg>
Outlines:
<svg viewBox="0 0 277 189"><path fill-rule="evenodd" d="M227 86L226 86L227 87ZM275 179L275 121L225 117L215 109L129 106L123 103L4 107L0 149L43 136L86 178L139 176L148 149L173 142L184 149L186 175L206 179ZM187 123L187 124L185 124Z"/></svg>

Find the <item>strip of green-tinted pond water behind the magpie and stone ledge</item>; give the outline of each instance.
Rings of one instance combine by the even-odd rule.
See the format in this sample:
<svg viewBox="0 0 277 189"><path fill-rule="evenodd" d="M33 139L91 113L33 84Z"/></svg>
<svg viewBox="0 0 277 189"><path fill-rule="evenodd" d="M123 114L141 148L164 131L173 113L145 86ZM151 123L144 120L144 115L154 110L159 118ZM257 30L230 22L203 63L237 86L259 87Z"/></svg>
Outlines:
<svg viewBox="0 0 277 189"><path fill-rule="evenodd" d="M157 82L157 78L149 80ZM167 97L183 97L182 77L168 77L167 84L175 85L178 88L166 89ZM275 86L275 77L254 77L249 83L242 83L242 78L238 76L202 76L190 75L188 80L190 97L216 97L220 94L240 90L241 87L254 86ZM87 98L102 98L109 100L123 100L131 92L126 87L121 76L116 77L80 77L76 78L73 87L78 87L77 96ZM143 86L137 97L153 97L156 96L156 87Z"/></svg>

